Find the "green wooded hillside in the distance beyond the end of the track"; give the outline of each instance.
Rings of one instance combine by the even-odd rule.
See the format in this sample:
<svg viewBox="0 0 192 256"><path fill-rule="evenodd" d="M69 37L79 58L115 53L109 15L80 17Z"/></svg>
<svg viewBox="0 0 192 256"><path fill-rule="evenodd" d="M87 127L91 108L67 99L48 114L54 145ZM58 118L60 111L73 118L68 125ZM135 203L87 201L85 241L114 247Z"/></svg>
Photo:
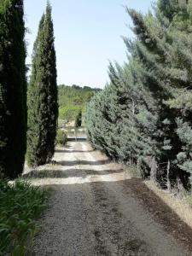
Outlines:
<svg viewBox="0 0 192 256"><path fill-rule="evenodd" d="M59 119L66 123L74 121L80 110L84 115L87 103L97 91L100 89L92 89L88 86L80 87L75 84L73 86L59 85Z"/></svg>

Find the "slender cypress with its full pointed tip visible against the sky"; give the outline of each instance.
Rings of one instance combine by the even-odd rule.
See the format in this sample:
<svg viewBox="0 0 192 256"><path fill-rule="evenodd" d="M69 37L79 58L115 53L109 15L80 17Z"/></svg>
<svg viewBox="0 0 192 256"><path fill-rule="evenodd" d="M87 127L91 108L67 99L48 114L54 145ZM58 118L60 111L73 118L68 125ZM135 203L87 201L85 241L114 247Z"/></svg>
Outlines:
<svg viewBox="0 0 192 256"><path fill-rule="evenodd" d="M32 77L28 90L27 161L44 165L55 151L58 118L56 58L51 7L47 4L32 56Z"/></svg>

